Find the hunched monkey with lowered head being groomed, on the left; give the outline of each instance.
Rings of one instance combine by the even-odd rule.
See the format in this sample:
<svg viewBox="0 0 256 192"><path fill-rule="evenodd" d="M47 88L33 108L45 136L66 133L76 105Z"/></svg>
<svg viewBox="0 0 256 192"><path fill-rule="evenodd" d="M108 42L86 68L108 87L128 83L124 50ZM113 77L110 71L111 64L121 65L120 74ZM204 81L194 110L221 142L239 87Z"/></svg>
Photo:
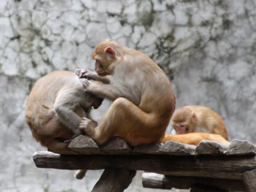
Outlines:
<svg viewBox="0 0 256 192"><path fill-rule="evenodd" d="M69 153L68 141L82 133L82 117L92 119L92 107L101 105L103 99L85 92L83 86L89 84L88 80L82 84L73 72L56 71L41 77L33 86L27 100L26 121L33 137L49 151Z"/></svg>

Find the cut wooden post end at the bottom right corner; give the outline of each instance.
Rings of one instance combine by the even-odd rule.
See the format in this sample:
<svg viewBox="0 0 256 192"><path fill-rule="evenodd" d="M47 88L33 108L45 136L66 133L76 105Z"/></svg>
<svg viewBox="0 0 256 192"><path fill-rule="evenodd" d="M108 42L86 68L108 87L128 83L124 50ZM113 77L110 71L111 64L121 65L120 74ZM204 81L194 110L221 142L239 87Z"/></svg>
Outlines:
<svg viewBox="0 0 256 192"><path fill-rule="evenodd" d="M248 192L256 191L256 169L242 173L242 181Z"/></svg>

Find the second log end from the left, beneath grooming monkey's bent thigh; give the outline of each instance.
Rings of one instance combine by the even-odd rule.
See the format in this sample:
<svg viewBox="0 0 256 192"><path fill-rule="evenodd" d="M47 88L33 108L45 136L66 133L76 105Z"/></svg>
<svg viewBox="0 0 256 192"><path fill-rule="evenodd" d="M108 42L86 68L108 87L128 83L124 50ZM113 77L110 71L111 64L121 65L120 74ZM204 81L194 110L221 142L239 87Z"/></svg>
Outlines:
<svg viewBox="0 0 256 192"><path fill-rule="evenodd" d="M100 146L100 149L106 154L129 154L132 152L129 144L127 144L126 141L119 136L111 138L108 143Z"/></svg>

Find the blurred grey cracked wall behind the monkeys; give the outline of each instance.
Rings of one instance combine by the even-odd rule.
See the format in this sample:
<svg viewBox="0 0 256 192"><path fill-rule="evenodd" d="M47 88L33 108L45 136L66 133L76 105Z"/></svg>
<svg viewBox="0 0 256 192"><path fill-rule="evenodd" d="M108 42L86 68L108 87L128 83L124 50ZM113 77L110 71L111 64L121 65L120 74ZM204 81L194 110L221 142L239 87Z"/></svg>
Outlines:
<svg viewBox="0 0 256 192"><path fill-rule="evenodd" d="M25 124L33 83L53 70L93 70L107 38L148 54L173 84L176 108L218 112L234 138L256 143L255 0L1 0L0 191L90 191L101 171L37 169L45 150ZM109 102L93 112L100 120ZM171 131L171 130L169 130ZM146 190L140 177L127 191Z"/></svg>

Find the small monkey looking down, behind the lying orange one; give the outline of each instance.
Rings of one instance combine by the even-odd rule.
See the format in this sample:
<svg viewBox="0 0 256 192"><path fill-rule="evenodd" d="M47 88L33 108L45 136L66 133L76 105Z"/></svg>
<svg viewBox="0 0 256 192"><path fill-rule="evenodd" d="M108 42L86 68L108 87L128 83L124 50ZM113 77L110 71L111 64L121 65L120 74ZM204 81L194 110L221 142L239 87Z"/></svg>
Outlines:
<svg viewBox="0 0 256 192"><path fill-rule="evenodd" d="M186 106L174 111L171 123L177 134L215 133L228 140L228 132L220 115L203 106Z"/></svg>

